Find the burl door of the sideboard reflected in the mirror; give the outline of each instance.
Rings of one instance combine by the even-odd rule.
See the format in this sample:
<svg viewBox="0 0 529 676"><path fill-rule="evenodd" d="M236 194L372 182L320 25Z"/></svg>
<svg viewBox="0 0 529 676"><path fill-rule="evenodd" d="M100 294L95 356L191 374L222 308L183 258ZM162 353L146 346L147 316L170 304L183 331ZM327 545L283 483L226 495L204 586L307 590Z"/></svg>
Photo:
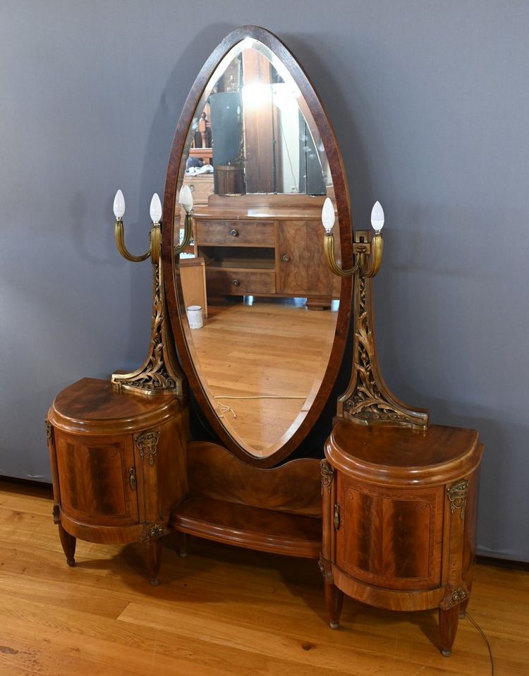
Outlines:
<svg viewBox="0 0 529 676"><path fill-rule="evenodd" d="M321 221L280 221L278 230L277 293L339 296L339 278L327 267L323 252Z"/></svg>

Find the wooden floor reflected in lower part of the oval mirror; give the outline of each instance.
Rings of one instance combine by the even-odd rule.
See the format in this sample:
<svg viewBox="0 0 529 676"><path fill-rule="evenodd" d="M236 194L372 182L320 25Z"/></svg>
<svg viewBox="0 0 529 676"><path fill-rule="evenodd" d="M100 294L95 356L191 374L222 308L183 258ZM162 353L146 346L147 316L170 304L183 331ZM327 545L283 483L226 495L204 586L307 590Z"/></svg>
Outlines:
<svg viewBox="0 0 529 676"><path fill-rule="evenodd" d="M317 312L300 298L250 296L209 306L204 326L191 332L214 409L251 454L269 455L310 408L329 361L336 310L336 302Z"/></svg>

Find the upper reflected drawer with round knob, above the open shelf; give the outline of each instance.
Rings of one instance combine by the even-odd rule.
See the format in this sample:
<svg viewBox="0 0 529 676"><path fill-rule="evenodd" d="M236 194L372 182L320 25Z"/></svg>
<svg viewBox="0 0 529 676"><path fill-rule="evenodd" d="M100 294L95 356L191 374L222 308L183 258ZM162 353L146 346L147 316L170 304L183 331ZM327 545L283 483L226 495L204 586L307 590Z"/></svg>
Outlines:
<svg viewBox="0 0 529 676"><path fill-rule="evenodd" d="M202 221L195 219L199 246L274 246L274 223L270 221Z"/></svg>

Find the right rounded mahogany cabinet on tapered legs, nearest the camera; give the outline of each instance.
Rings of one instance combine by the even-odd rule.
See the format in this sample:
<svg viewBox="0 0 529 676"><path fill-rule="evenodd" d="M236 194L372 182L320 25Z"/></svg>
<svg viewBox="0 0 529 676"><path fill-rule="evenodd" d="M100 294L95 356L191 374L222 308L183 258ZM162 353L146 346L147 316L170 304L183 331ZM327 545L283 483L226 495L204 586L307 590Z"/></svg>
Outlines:
<svg viewBox="0 0 529 676"><path fill-rule="evenodd" d="M336 423L322 461L330 625L343 593L377 608L439 608L451 653L472 588L482 444L474 430Z"/></svg>

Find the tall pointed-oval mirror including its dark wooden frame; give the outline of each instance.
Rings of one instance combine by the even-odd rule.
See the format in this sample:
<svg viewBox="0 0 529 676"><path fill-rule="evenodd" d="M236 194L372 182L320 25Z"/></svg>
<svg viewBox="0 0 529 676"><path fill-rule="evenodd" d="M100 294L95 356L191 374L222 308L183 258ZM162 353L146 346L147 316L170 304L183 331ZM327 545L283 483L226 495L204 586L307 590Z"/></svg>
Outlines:
<svg viewBox="0 0 529 676"><path fill-rule="evenodd" d="M181 199L183 186L192 199ZM320 101L276 37L233 31L178 123L164 274L190 387L221 441L252 464L276 464L303 440L343 355L351 281L334 277L324 258L327 197L348 265L346 182ZM186 211L191 239L174 255Z"/></svg>

